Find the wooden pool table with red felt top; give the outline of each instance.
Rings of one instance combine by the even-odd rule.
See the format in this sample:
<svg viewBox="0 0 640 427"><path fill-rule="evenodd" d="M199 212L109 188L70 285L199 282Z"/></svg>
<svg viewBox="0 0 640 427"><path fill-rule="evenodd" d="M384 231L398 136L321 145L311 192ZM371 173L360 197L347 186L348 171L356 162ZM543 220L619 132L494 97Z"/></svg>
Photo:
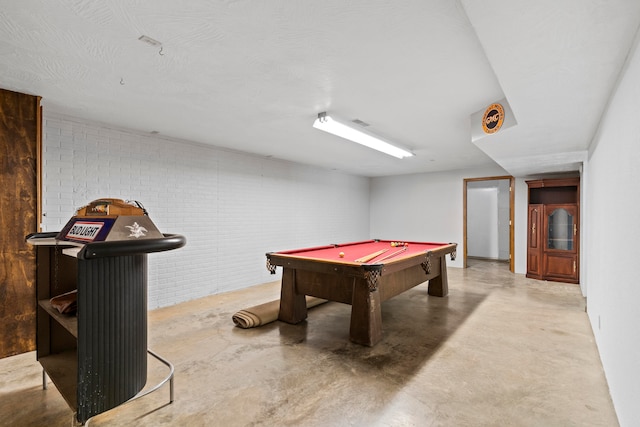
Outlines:
<svg viewBox="0 0 640 427"><path fill-rule="evenodd" d="M445 255L455 243L367 240L269 252L267 269L281 266L278 319L296 324L307 318L305 295L351 304L351 341L373 346L382 338L380 304L429 281L428 293L448 294Z"/></svg>

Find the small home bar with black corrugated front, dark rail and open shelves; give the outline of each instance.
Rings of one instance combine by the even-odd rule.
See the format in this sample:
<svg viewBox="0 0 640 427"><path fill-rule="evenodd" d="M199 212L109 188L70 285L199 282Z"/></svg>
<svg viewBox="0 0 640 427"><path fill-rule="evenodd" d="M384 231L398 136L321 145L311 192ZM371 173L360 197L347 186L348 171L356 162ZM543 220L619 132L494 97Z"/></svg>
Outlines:
<svg viewBox="0 0 640 427"><path fill-rule="evenodd" d="M76 217L72 220L81 223ZM111 231L123 234L115 230L116 221L110 224ZM36 353L76 421L84 424L145 387L147 254L182 247L186 240L177 234L160 234L80 243L64 240L63 234L27 236L27 242L36 247ZM74 290L77 315L62 314L52 306L52 297Z"/></svg>

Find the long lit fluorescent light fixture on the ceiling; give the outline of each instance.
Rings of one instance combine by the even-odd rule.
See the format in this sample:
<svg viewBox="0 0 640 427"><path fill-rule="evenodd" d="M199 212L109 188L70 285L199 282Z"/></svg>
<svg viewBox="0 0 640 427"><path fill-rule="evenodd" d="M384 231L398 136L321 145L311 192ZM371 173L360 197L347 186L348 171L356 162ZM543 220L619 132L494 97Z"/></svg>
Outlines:
<svg viewBox="0 0 640 427"><path fill-rule="evenodd" d="M313 122L313 127L399 159L413 156L412 152L385 141L355 123L341 120L335 116L328 116L327 113L318 114L318 118Z"/></svg>

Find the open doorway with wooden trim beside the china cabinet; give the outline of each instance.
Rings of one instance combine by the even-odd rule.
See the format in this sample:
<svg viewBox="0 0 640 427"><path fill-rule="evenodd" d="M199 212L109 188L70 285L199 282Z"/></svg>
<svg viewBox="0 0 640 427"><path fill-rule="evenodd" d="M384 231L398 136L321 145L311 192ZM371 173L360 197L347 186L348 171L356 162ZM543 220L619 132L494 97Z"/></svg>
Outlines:
<svg viewBox="0 0 640 427"><path fill-rule="evenodd" d="M464 180L464 268L468 257L477 257L508 261L514 272L514 188L512 176Z"/></svg>

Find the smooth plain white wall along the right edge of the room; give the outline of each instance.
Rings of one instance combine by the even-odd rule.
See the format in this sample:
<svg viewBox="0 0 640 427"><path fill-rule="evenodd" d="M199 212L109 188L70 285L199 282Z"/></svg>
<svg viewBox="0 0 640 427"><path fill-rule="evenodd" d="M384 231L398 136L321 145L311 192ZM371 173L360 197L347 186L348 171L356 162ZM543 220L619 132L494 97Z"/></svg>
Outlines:
<svg viewBox="0 0 640 427"><path fill-rule="evenodd" d="M582 187L587 310L622 426L640 425L638 36L590 148ZM584 240L583 240L584 242Z"/></svg>

